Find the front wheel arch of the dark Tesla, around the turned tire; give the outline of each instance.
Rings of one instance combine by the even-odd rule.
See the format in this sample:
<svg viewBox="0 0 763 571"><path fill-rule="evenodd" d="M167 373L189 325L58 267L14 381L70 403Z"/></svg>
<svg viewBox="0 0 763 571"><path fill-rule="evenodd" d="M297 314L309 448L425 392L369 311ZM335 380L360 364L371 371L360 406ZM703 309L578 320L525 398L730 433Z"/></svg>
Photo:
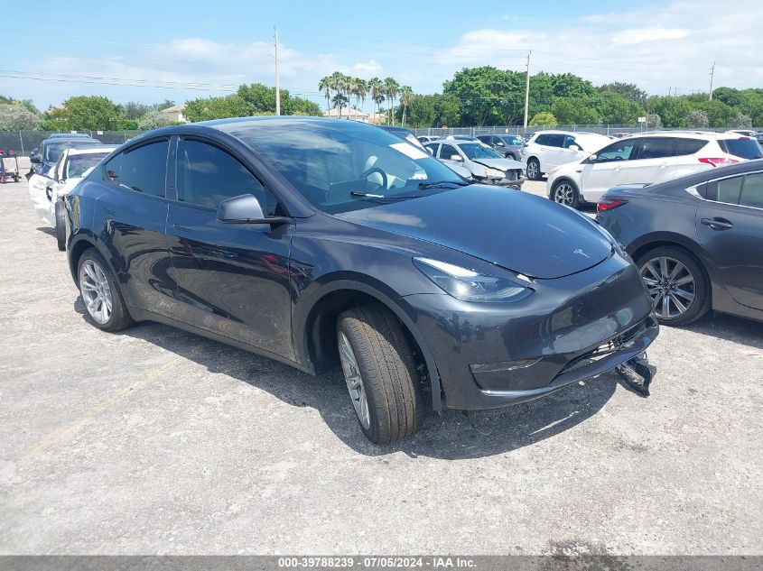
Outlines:
<svg viewBox="0 0 763 571"><path fill-rule="evenodd" d="M361 281L362 280L362 281ZM382 282L369 283L368 276L353 279L342 276L340 279L324 282L303 299L293 312L293 343L296 358L305 364L312 373L325 370L339 361L336 347L336 322L340 313L346 309L368 303L381 303L392 311L400 321L414 343L426 366L427 381L432 389L432 407L436 412L442 410L440 375L434 363L432 351L423 335L415 326L413 318L405 311L401 300Z"/></svg>

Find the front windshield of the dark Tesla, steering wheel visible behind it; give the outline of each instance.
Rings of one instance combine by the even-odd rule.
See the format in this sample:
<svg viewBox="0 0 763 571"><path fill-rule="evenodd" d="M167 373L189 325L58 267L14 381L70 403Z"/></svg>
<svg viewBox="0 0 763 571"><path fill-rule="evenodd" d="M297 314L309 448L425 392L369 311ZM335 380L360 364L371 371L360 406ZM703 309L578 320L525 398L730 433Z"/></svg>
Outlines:
<svg viewBox="0 0 763 571"><path fill-rule="evenodd" d="M313 206L330 214L465 184L442 162L394 134L343 123L268 121L220 128L264 155Z"/></svg>

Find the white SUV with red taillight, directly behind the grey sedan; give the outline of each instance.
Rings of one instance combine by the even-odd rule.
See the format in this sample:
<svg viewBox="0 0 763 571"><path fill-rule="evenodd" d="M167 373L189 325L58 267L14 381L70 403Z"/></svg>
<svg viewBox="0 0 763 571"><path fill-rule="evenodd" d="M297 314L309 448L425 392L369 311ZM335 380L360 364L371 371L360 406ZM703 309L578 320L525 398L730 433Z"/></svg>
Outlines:
<svg viewBox="0 0 763 571"><path fill-rule="evenodd" d="M647 185L700 170L763 158L755 139L730 133L664 131L634 134L549 174L548 198L578 207L619 185Z"/></svg>

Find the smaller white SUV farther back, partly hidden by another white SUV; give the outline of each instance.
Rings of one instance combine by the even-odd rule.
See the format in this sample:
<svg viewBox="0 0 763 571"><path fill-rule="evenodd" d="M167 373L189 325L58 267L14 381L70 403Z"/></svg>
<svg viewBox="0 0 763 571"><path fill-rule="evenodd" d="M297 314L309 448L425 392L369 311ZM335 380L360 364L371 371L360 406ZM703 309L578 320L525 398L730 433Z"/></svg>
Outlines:
<svg viewBox="0 0 763 571"><path fill-rule="evenodd" d="M538 131L522 148L527 178L540 180L544 173L568 162L585 159L611 141L612 137L604 134Z"/></svg>

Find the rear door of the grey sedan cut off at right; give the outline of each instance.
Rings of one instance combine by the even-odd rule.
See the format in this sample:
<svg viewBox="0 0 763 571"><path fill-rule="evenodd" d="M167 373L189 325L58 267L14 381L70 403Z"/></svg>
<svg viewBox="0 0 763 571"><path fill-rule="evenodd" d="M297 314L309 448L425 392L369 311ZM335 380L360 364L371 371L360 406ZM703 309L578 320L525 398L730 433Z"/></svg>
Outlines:
<svg viewBox="0 0 763 571"><path fill-rule="evenodd" d="M763 172L708 183L697 234L730 296L763 309Z"/></svg>

